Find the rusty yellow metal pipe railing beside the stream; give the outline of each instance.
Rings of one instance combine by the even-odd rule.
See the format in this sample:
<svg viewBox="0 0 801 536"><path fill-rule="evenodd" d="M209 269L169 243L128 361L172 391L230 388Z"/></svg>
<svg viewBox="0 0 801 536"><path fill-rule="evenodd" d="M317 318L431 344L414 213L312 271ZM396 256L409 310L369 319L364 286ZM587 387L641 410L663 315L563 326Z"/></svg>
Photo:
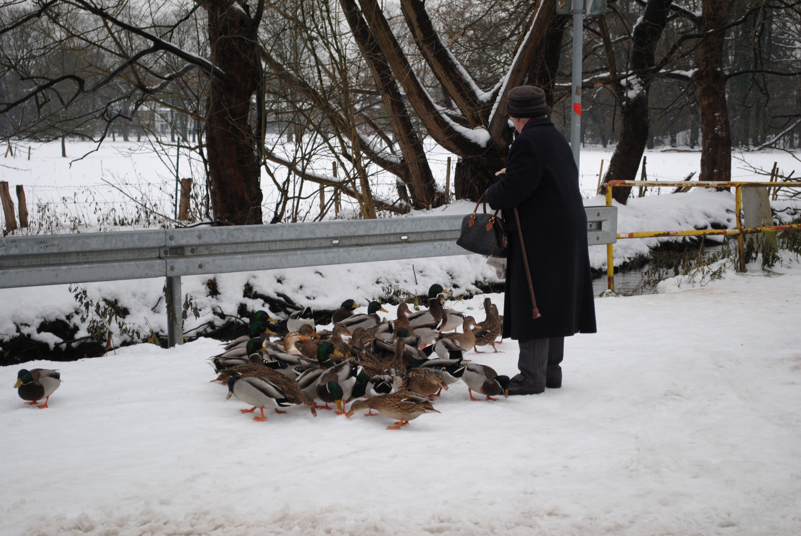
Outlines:
<svg viewBox="0 0 801 536"><path fill-rule="evenodd" d="M801 224L783 226L752 227L743 229L743 220L740 212L743 209L743 188L801 188L801 182L693 182L693 181L610 181L606 184L606 206L612 206L612 189L615 186L691 186L694 188L731 188L735 189L735 215L737 218L737 229L701 229L701 230L664 230L664 231L645 231L642 233L618 233L618 238L653 238L662 236L704 236L711 234L737 235L737 252L739 256L740 270L746 269L745 248L743 246L743 235L753 233L764 233L779 230L801 229ZM614 290L614 262L613 245L606 244L606 285L609 290Z"/></svg>

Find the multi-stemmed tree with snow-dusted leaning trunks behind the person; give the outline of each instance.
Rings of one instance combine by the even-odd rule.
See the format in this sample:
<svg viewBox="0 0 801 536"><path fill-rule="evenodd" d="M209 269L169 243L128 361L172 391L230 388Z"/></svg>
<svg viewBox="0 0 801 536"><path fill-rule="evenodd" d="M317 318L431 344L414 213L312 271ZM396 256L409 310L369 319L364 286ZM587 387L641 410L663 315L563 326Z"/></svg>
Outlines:
<svg viewBox="0 0 801 536"><path fill-rule="evenodd" d="M498 4L482 5L482 13ZM536 84L553 102L568 20L556 15L554 0L528 6L525 19L511 30L497 27L497 32L514 32L508 36L511 59L490 81L492 85L485 87L479 86L469 66L449 48L449 39L438 32L421 0L400 0L402 27L393 27L377 0L338 0L339 10L332 2L304 0L269 7L276 18L294 22L307 34L300 57L294 52L290 57L280 42L263 46L268 70L302 95L308 106L321 111L325 126L335 135L394 174L417 208L442 201L423 148L424 137L457 154L457 198L476 199L496 180L494 173L504 166L512 141L513 130L505 114L508 91L524 83ZM344 34L338 33L340 19L348 28ZM359 58L348 56L348 44ZM357 69L357 74L338 72L340 58L357 59L364 69ZM348 116L349 104L345 106L341 98L352 94L370 95L375 102L363 99L358 114ZM321 128L322 124L316 122ZM267 154L267 158L285 163L279 154ZM319 173L304 177L332 183L331 177Z"/></svg>

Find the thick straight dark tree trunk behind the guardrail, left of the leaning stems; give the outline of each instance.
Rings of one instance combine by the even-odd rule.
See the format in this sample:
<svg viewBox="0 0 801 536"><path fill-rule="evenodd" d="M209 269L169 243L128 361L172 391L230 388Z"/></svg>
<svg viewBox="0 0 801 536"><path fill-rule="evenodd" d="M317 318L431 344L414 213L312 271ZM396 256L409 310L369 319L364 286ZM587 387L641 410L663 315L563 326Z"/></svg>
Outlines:
<svg viewBox="0 0 801 536"><path fill-rule="evenodd" d="M230 83L211 77L206 147L215 221L262 223L259 161L249 119L259 86L256 29L239 4L209 0L208 34L215 66Z"/></svg>

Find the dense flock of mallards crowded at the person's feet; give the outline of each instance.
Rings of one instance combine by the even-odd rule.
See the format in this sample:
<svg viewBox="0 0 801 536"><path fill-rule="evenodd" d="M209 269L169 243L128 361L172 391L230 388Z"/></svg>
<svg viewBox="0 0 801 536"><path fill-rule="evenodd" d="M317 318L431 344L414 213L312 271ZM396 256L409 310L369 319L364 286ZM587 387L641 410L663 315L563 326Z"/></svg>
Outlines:
<svg viewBox="0 0 801 536"><path fill-rule="evenodd" d="M486 318L477 323L472 316L444 307L441 285L429 288L428 308L415 312L401 303L395 320L382 319L388 312L379 302L368 305L367 314L354 314L358 307L349 299L332 315L332 330L316 330L310 307L290 314L288 334L275 335L264 311L257 311L250 333L231 341L222 354L210 358L217 378L227 386L227 398L235 396L252 406L242 413L260 410L256 421L264 421L264 409L286 413L281 408L304 405L316 410L333 410L350 417L356 411L376 410L400 426L425 413L439 413L433 397L454 382L465 382L473 393L508 396L509 377L492 367L464 358L463 353L478 346L497 344L503 321L497 307L484 300ZM457 332L461 326L462 331ZM348 338L347 340L345 338ZM323 402L320 406L317 401ZM345 404L352 402L346 411Z"/></svg>

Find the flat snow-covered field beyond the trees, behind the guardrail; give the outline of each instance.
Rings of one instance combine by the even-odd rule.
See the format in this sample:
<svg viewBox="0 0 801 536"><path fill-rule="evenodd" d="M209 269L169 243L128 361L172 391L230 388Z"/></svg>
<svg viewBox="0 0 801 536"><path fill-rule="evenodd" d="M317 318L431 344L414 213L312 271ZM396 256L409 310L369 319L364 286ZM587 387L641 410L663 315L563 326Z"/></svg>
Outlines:
<svg viewBox="0 0 801 536"><path fill-rule="evenodd" d="M436 146L429 139L425 142L429 165L437 185L445 189L445 168L448 157L452 157L453 168L456 166L455 155ZM30 160L28 149L30 147ZM25 186L26 198L32 222L42 222L42 230L35 228L29 232L63 232L64 229L54 228L54 219L60 220L60 225L79 220L82 226L114 230L115 218L110 217L111 209L115 209L117 219L124 218L126 227L131 227L131 219L141 214L142 206L172 217L175 210L175 143L163 142L152 144L143 139L142 142L112 142L108 140L95 152L95 144L67 140L67 158L61 156L60 142L37 144L33 142L14 143L14 157L0 158L0 180L8 181L14 196L14 186ZM289 144L285 150L292 152ZM598 172L601 161L604 170L609 168L610 158L614 147L607 149L601 147L586 147L582 149L581 156L581 188L586 198L593 198L598 186ZM694 179L698 179L701 153L699 150L656 149L646 150L646 172L649 180L677 181L686 178L695 171ZM89 153L89 154L87 154ZM76 160L76 158L85 158ZM767 175L755 174L754 169L765 170L770 173L773 163L777 162L779 171L784 176L794 170L801 171L801 162L786 151L760 150L755 152L741 152L735 150L732 155L732 180L735 181L767 181ZM642 163L642 162L641 162ZM182 147L177 158L178 174L181 178L194 178L193 210L197 210L196 201L203 198L202 177L203 166L196 155ZM312 162L310 170L320 173L330 171L330 162L316 159ZM642 165L637 172L640 177ZM372 169L372 187L374 194L379 198L391 198L395 194L395 178L384 172ZM286 171L276 168L276 176L286 178ZM276 188L272 179L264 170L261 184L264 190L264 219L272 218L275 208ZM317 186L307 183L304 195L313 197L307 202L310 218L317 215L319 200L316 198ZM453 194L453 180L451 182ZM653 194L649 192L648 194ZM666 192L660 192L662 194ZM300 194L299 194L300 195ZM328 190L330 199L331 191ZM50 202L46 209L37 208ZM141 205L139 205L140 203ZM603 204L603 201L595 204ZM343 210L346 214L357 210L355 202L344 196ZM56 218L58 214L58 218ZM304 211L301 211L301 215ZM333 210L327 218L333 218ZM133 225L142 226L141 223ZM67 226L69 228L69 226ZM20 231L18 231L19 233ZM84 230L86 232L86 230Z"/></svg>

